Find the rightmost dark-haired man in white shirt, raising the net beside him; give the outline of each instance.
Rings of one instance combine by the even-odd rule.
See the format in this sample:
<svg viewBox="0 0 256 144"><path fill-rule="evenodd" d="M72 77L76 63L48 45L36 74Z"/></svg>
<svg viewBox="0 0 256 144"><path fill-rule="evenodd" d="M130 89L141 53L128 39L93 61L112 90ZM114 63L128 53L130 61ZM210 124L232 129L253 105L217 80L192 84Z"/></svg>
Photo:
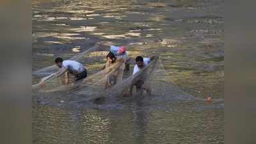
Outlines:
<svg viewBox="0 0 256 144"><path fill-rule="evenodd" d="M150 61L152 61L153 59L154 59L154 56L150 56L149 58L143 58L142 56L137 56L137 58L135 59L136 65L134 66L132 75L135 75L142 68L146 67L150 63ZM143 88L143 84L144 84L143 77L142 77L142 79L141 78L138 79L135 83L132 83L130 92L129 92L129 96L132 95L132 90L133 90L134 85L136 86L136 92L138 92L139 90L141 90ZM147 91L149 91L149 90L150 89L147 88Z"/></svg>

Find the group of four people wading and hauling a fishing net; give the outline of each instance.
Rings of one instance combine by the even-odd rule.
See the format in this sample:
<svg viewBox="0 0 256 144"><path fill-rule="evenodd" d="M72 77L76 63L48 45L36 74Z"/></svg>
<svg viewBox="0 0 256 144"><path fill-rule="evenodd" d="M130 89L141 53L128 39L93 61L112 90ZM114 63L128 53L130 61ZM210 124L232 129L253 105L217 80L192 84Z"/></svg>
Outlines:
<svg viewBox="0 0 256 144"><path fill-rule="evenodd" d="M124 62L125 67L124 70L128 71L129 70L129 61L131 61L131 58L128 57L126 47L125 46L115 46L115 45L109 45L109 53L106 56L106 64L102 68L102 70L107 70L111 66L115 65L118 62ZM137 56L135 61L136 64L134 65L133 68L133 73L132 75L136 74L139 72L142 68L146 67L150 61L154 59L154 56L150 56L149 58L143 58L142 56ZM87 77L87 70L86 67L84 67L81 63L73 60L63 60L62 58L56 58L55 59L56 65L61 68L61 70L58 72L58 76L63 74L65 72L65 77L66 77L66 83L69 81L69 76L68 74L72 74L74 76L74 79L72 82L80 81L82 79L85 79ZM106 80L106 85L105 88L109 88L116 84L117 81L117 76L118 76L118 70L114 72L115 74L112 74L111 76L108 77ZM58 77L57 76L57 77ZM140 79L136 81L134 84L131 85L131 88L129 90L129 93L127 94L128 96L132 95L132 90L133 87L136 86L136 91L139 92L140 90L143 89L143 79ZM148 91L148 88L147 88Z"/></svg>

